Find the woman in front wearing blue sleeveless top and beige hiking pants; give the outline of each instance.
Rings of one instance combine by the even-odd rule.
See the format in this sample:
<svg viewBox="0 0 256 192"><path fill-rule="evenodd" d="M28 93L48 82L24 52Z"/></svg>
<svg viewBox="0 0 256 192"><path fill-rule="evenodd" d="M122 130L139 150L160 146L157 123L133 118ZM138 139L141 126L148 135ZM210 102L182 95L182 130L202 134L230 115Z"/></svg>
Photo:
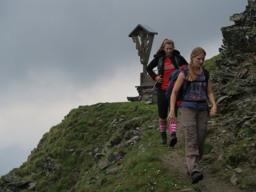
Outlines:
<svg viewBox="0 0 256 192"><path fill-rule="evenodd" d="M212 108L209 112L210 117L214 117L217 112L210 78L206 81L205 72L208 71L203 70L202 68L205 56L206 52L201 47L196 47L192 51L190 55L190 63L188 64L188 71L185 72L183 70L179 74L172 90L170 113L167 118L170 122L175 120L174 106L176 96L183 86L184 95L181 103L181 117L186 140L186 162L192 184L198 183L198 181L202 180L204 177L198 164L203 156L204 142L206 139L206 126L208 120L207 98L209 98L209 101L212 104ZM190 83L187 87L188 82Z"/></svg>

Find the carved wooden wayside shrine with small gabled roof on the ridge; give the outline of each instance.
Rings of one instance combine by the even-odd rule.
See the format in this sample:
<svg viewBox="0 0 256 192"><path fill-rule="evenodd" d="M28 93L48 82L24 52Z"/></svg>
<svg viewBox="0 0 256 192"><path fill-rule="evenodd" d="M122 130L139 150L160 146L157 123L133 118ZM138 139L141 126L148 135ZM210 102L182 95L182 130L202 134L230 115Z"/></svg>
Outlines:
<svg viewBox="0 0 256 192"><path fill-rule="evenodd" d="M140 73L140 86L136 86L137 88L153 87L156 83L156 81L149 78L146 71L146 66L150 57L154 35L157 34L157 32L142 24L138 24L136 28L134 28L134 30L132 30L132 32L129 34L129 37L131 37L133 42L136 43L138 56L140 56L140 63L143 65L143 72Z"/></svg>

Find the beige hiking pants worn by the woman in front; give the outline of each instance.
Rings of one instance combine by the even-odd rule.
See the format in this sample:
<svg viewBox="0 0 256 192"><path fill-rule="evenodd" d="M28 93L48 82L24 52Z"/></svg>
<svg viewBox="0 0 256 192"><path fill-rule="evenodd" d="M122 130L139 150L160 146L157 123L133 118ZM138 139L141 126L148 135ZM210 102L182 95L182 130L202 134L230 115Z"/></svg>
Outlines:
<svg viewBox="0 0 256 192"><path fill-rule="evenodd" d="M200 172L198 164L204 152L208 114L207 110L182 107L181 117L186 140L186 162L192 175L194 171Z"/></svg>

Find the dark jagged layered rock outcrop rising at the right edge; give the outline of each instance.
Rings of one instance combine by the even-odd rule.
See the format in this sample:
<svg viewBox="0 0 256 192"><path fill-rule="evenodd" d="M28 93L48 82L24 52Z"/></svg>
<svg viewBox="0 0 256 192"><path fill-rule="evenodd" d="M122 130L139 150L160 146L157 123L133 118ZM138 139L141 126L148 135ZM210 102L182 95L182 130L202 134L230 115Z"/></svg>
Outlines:
<svg viewBox="0 0 256 192"><path fill-rule="evenodd" d="M230 16L235 24L222 27L222 60L214 64L218 74L212 75L214 91L222 96L220 112L256 111L256 2L248 0L246 10Z"/></svg>

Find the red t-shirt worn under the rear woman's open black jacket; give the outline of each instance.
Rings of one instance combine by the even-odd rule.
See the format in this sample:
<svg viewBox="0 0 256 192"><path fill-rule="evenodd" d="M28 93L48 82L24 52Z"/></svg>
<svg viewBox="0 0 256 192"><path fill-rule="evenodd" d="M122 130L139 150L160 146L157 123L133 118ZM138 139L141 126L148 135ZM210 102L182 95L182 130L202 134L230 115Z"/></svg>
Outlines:
<svg viewBox="0 0 256 192"><path fill-rule="evenodd" d="M170 57L165 57L164 58L164 76L162 84L161 84L161 89L167 90L168 85L170 83L169 77L172 72L175 71L175 66L172 64L172 60Z"/></svg>

